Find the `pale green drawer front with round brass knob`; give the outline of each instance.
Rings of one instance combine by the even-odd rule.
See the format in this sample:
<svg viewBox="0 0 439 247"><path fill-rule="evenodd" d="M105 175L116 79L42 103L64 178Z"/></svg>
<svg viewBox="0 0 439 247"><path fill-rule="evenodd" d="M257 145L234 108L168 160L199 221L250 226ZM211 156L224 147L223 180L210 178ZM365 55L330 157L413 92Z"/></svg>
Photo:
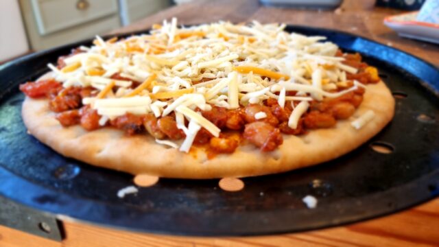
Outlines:
<svg viewBox="0 0 439 247"><path fill-rule="evenodd" d="M40 35L117 14L117 0L31 0Z"/></svg>

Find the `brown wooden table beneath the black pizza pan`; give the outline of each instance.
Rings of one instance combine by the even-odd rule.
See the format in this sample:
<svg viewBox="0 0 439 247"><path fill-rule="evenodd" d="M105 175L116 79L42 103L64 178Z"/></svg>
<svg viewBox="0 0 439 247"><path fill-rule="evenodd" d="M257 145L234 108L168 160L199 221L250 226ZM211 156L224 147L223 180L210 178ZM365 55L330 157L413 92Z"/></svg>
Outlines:
<svg viewBox="0 0 439 247"><path fill-rule="evenodd" d="M343 30L392 45L439 67L439 46L399 38L383 25L397 10L373 8L374 1L345 0L337 11L268 8L257 1L200 1L176 6L114 34L133 32L178 17L179 23L257 20ZM62 243L0 226L0 246L439 246L439 199L376 220L307 233L261 237L174 237L139 234L64 221Z"/></svg>

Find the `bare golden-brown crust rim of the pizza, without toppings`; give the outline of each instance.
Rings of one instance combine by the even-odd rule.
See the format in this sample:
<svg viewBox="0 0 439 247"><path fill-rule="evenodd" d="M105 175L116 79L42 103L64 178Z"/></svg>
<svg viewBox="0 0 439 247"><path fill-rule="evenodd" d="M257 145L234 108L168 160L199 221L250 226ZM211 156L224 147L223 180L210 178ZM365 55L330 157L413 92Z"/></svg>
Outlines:
<svg viewBox="0 0 439 247"><path fill-rule="evenodd" d="M351 121L367 110L373 110L375 118L355 130ZM283 135L283 144L274 152L263 153L244 145L233 154L211 159L201 149L186 154L160 145L149 134L128 137L115 128L91 132L79 125L64 128L55 119L56 113L49 110L47 99L26 97L22 115L36 139L64 156L91 165L166 178L246 177L316 165L354 150L389 123L394 115L394 98L383 82L369 84L354 116L338 120L335 128L310 130L299 137Z"/></svg>

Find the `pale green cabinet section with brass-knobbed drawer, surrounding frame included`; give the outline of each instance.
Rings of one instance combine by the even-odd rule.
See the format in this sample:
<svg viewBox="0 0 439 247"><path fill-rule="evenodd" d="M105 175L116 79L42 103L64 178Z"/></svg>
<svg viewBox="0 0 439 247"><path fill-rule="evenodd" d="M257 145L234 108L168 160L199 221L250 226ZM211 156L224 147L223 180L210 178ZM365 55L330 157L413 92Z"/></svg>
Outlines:
<svg viewBox="0 0 439 247"><path fill-rule="evenodd" d="M120 27L117 0L20 0L32 49L105 34Z"/></svg>

